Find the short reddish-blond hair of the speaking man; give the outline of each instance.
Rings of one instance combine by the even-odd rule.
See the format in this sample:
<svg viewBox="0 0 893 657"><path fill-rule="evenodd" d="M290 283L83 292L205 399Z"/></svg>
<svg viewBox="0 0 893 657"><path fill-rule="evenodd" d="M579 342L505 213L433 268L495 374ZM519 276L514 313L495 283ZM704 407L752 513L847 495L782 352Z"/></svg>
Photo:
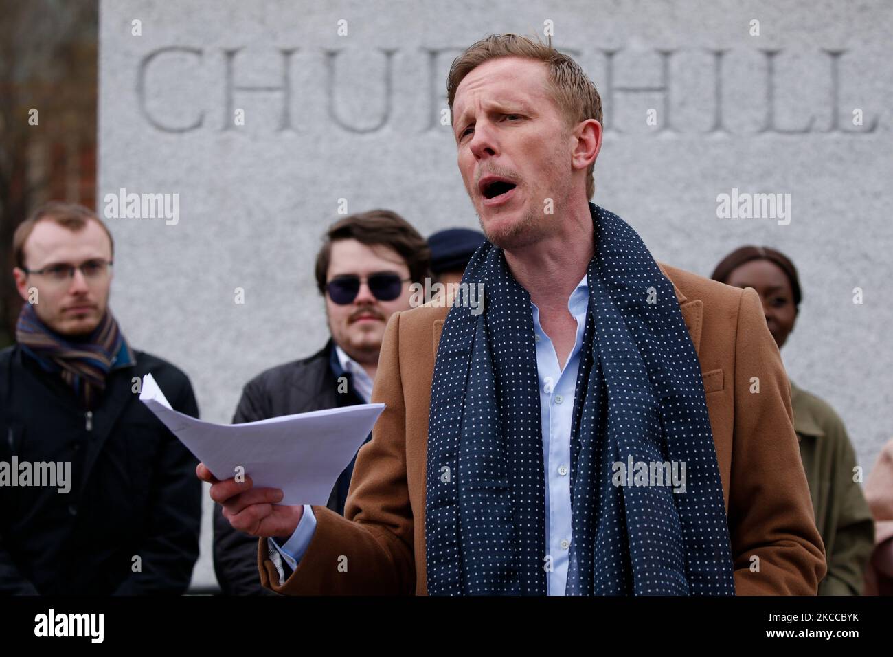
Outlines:
<svg viewBox="0 0 893 657"><path fill-rule="evenodd" d="M549 91L569 127L587 119L602 122L602 98L580 64L555 50L552 38L548 43L543 43L538 38L534 40L516 34L491 34L466 48L462 55L453 60L447 76L447 103L451 115L455 90L464 77L480 64L501 57L523 57L547 65ZM596 193L594 168L595 163L589 164L586 181L588 198Z"/></svg>

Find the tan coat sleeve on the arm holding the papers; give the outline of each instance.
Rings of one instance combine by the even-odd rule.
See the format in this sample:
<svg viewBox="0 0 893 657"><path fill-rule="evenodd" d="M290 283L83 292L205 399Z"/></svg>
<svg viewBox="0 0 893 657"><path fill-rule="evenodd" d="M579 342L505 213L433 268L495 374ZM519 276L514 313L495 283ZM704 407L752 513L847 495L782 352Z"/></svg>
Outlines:
<svg viewBox="0 0 893 657"><path fill-rule="evenodd" d="M406 483L405 403L400 378L400 313L388 320L371 401L386 404L356 457L345 517L314 506L316 531L284 583L258 543L264 586L281 594L413 594L413 511Z"/></svg>

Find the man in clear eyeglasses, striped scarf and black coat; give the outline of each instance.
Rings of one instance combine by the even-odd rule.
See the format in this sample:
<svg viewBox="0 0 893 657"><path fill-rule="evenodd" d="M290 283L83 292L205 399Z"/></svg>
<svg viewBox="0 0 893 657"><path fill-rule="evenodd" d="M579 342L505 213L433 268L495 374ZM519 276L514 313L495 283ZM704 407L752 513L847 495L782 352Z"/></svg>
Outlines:
<svg viewBox="0 0 893 657"><path fill-rule="evenodd" d="M151 373L197 417L188 377L121 333L112 235L88 208L41 206L13 249L25 304L0 352L0 594L182 594L198 558L196 459L138 383Z"/></svg>

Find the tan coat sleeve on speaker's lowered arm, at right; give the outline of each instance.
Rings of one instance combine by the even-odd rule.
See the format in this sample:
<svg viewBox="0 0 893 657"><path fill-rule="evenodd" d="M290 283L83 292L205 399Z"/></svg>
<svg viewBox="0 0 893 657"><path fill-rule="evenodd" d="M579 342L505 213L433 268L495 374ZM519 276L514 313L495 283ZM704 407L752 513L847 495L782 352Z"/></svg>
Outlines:
<svg viewBox="0 0 893 657"><path fill-rule="evenodd" d="M788 376L752 288L739 305L734 397L729 532L736 593L815 595L825 574L824 545L797 447Z"/></svg>

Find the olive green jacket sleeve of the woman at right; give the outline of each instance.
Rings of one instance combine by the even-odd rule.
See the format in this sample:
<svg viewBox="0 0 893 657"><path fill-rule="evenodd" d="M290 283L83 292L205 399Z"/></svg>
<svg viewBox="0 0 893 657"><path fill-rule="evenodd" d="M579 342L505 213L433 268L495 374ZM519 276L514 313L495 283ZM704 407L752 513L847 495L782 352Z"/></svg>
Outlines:
<svg viewBox="0 0 893 657"><path fill-rule="evenodd" d="M855 451L847 429L834 415L824 427L822 440L834 443L832 494L834 540L828 552L828 575L819 585L820 595L861 595L864 573L874 549L874 519L862 492L853 481Z"/></svg>

